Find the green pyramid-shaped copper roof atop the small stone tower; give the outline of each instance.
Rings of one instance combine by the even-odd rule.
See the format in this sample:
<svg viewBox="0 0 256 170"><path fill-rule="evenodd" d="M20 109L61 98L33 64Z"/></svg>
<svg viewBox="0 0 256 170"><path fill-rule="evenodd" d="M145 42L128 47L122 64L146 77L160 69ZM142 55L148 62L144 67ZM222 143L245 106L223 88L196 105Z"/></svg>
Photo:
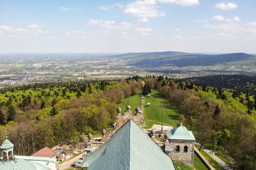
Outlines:
<svg viewBox="0 0 256 170"><path fill-rule="evenodd" d="M195 141L195 137L193 133L187 128L185 128L182 123L180 123L180 126L174 127L173 130L167 131L169 135L169 139L177 139L177 140L190 140Z"/></svg>

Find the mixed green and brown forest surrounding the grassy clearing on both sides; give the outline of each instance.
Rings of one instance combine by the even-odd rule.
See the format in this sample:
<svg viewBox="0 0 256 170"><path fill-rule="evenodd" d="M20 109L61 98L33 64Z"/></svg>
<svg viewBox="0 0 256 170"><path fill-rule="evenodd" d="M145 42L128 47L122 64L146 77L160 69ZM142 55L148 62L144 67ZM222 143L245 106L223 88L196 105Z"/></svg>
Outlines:
<svg viewBox="0 0 256 170"><path fill-rule="evenodd" d="M8 131L17 155L31 155L57 141L76 145L87 133L108 129L125 98L152 89L181 111L181 121L201 145L222 147L241 169L255 170L255 95L163 76L2 88L0 132Z"/></svg>

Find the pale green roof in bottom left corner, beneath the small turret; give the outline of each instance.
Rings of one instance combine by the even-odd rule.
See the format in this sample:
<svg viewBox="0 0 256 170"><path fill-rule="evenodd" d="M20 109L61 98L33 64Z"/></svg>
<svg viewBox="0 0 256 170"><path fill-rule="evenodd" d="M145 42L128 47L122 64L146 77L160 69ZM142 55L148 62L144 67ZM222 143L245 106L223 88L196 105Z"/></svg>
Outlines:
<svg viewBox="0 0 256 170"><path fill-rule="evenodd" d="M15 158L12 161L0 161L1 170L50 170L41 164Z"/></svg>

